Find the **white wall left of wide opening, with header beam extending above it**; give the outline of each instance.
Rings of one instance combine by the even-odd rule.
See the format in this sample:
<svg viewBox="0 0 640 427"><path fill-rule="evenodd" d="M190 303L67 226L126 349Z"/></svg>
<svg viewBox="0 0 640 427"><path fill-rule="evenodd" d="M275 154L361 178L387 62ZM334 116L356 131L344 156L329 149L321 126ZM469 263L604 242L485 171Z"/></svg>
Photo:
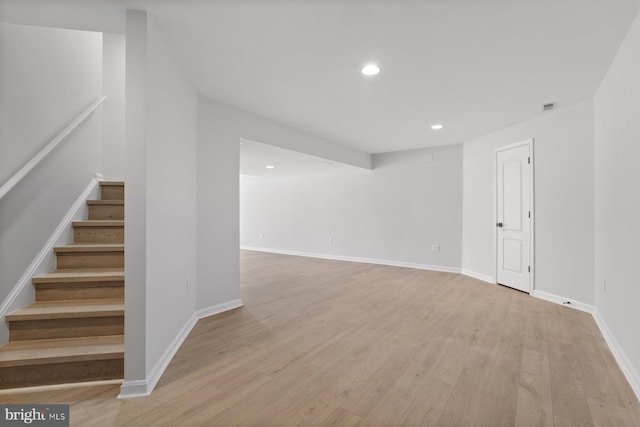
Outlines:
<svg viewBox="0 0 640 427"><path fill-rule="evenodd" d="M239 140L246 138L362 168L371 155L199 97L198 308L240 298Z"/></svg>

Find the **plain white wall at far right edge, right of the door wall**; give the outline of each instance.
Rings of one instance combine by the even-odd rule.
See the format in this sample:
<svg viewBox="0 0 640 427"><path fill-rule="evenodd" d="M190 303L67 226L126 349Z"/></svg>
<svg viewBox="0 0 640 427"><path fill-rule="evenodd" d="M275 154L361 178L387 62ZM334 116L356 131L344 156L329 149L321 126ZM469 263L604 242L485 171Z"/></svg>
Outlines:
<svg viewBox="0 0 640 427"><path fill-rule="evenodd" d="M596 93L595 304L640 396L640 15ZM604 281L606 280L606 292Z"/></svg>

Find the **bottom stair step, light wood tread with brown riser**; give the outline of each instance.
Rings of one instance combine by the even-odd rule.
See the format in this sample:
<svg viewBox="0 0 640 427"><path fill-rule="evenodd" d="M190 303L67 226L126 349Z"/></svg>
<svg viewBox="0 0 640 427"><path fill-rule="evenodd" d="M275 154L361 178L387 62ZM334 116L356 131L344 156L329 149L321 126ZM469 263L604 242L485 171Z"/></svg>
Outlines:
<svg viewBox="0 0 640 427"><path fill-rule="evenodd" d="M0 347L0 389L123 377L122 335L9 342Z"/></svg>

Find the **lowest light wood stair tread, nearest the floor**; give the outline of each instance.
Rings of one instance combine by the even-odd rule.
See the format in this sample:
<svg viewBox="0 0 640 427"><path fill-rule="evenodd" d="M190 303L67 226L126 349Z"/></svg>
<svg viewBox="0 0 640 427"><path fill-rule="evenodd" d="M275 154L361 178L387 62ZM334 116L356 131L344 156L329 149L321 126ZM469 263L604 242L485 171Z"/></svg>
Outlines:
<svg viewBox="0 0 640 427"><path fill-rule="evenodd" d="M124 336L12 341L0 348L0 367L124 358Z"/></svg>

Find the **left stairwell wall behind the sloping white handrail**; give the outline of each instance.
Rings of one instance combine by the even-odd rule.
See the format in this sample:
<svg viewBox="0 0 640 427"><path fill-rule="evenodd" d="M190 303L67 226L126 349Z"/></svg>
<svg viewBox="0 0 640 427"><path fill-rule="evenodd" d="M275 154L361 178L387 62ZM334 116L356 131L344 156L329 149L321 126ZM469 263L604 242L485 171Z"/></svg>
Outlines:
<svg viewBox="0 0 640 427"><path fill-rule="evenodd" d="M0 23L0 184L101 93L101 34ZM99 172L101 123L97 110L0 200L0 301Z"/></svg>

